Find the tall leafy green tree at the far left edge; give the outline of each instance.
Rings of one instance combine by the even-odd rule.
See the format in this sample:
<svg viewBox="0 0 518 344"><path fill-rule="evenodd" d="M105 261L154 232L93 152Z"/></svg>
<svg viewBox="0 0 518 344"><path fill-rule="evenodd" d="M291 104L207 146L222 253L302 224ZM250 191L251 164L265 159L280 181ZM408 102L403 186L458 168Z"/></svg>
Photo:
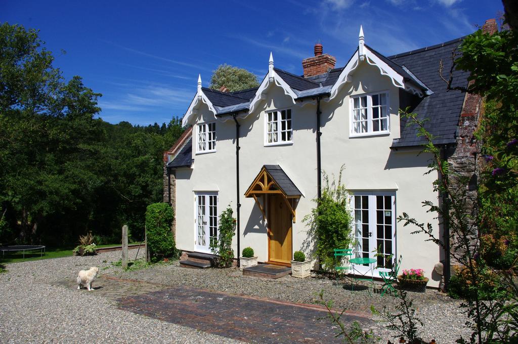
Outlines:
<svg viewBox="0 0 518 344"><path fill-rule="evenodd" d="M102 134L93 118L100 94L80 77L65 82L52 62L36 30L0 25L0 200L17 214L22 241L98 185L89 170Z"/></svg>

